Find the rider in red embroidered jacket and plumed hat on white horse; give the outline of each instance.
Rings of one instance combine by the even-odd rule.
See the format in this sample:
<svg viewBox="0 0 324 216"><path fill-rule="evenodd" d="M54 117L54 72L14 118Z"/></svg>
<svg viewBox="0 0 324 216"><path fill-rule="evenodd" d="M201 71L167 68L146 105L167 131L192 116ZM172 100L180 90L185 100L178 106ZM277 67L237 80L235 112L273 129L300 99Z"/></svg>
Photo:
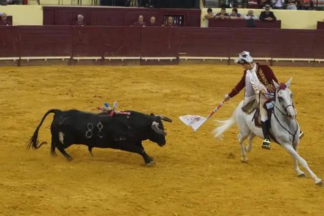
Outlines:
<svg viewBox="0 0 324 216"><path fill-rule="evenodd" d="M268 113L264 107L266 101L273 97L275 93L275 86L272 82L274 80L278 83L274 73L267 65L259 65L253 62L251 53L243 51L239 53L235 63L240 64L244 69L244 75L232 91L225 95L225 101L234 97L245 87L245 98L249 98L253 95L256 96L259 104L259 112L261 114L261 126L264 136L262 142L262 148L271 148L269 124L268 124Z"/></svg>

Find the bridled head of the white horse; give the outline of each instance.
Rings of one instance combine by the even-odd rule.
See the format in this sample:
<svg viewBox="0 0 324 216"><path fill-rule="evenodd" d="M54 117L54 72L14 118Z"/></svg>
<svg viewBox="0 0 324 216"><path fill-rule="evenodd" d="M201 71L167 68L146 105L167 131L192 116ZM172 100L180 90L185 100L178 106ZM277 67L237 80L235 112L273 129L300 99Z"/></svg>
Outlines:
<svg viewBox="0 0 324 216"><path fill-rule="evenodd" d="M296 110L294 107L293 102L293 93L289 89L289 86L292 83L292 78L285 84L285 83L276 83L274 80L272 80L275 88L276 88L276 103L279 102L282 108L285 111L285 114L287 117L291 119L296 118Z"/></svg>

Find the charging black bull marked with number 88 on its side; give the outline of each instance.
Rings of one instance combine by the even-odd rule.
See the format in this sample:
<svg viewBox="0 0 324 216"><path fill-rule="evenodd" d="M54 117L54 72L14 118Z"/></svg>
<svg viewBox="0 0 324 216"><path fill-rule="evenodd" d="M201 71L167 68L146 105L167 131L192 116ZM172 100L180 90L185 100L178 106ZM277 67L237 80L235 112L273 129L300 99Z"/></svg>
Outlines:
<svg viewBox="0 0 324 216"><path fill-rule="evenodd" d="M114 148L134 152L142 155L145 164L151 164L154 160L146 154L142 141L149 139L159 146L166 144L164 126L161 120L172 122L164 116L146 115L134 111L115 113L110 117L109 113L86 113L77 110L49 110L37 126L30 138L30 147L37 149L46 142L38 144L38 131L45 118L54 113L51 124L51 155L57 156L55 148L66 157L72 157L66 153L65 148L72 144L84 144L89 147L92 155L92 148Z"/></svg>

